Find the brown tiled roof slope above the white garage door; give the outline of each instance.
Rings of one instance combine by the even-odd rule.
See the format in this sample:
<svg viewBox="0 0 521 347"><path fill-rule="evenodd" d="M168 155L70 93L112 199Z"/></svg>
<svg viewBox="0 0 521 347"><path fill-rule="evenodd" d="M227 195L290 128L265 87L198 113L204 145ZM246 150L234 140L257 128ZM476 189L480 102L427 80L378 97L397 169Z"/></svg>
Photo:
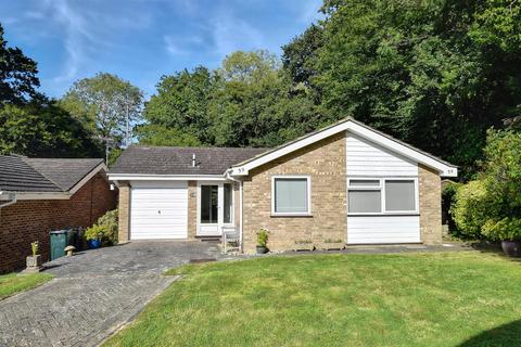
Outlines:
<svg viewBox="0 0 521 347"><path fill-rule="evenodd" d="M253 147L129 146L110 174L224 175L232 165L266 151ZM193 154L195 166L192 166Z"/></svg>

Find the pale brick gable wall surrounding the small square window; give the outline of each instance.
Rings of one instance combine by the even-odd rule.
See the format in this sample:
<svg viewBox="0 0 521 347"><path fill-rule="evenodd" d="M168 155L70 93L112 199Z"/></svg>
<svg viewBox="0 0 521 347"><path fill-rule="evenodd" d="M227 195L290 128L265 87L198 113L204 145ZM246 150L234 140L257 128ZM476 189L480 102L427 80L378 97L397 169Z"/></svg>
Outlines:
<svg viewBox="0 0 521 347"><path fill-rule="evenodd" d="M271 177L309 175L312 217L271 216ZM252 170L243 183L243 246L255 252L256 232L270 231L268 247L285 250L295 241L326 239L346 242L345 133L332 136Z"/></svg>

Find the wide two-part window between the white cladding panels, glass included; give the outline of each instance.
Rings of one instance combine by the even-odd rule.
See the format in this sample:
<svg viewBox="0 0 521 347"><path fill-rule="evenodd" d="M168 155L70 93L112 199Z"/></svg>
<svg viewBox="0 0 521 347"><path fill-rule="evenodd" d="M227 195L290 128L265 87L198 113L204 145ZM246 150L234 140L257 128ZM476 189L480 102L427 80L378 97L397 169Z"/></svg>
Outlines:
<svg viewBox="0 0 521 347"><path fill-rule="evenodd" d="M350 179L350 214L417 213L416 179Z"/></svg>

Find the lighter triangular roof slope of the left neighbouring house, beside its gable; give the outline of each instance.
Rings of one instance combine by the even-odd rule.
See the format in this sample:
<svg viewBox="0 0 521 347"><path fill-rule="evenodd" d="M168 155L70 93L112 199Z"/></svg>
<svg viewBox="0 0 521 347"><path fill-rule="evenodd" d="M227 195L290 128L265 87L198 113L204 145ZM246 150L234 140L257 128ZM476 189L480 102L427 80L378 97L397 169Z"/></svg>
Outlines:
<svg viewBox="0 0 521 347"><path fill-rule="evenodd" d="M54 182L63 191L68 191L96 167L103 163L101 158L88 159L50 159L25 158L27 164Z"/></svg>

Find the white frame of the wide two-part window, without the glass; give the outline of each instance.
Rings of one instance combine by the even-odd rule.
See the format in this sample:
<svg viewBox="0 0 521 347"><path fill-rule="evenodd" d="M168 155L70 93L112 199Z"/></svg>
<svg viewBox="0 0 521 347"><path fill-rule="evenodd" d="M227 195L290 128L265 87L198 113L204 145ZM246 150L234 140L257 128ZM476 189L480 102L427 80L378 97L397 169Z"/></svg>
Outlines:
<svg viewBox="0 0 521 347"><path fill-rule="evenodd" d="M351 181L379 181L379 185L351 185ZM415 209L414 210L386 210L385 209L385 181L414 181L415 182ZM420 214L420 192L418 177L348 177L347 195L350 191L380 191L381 207L379 213L350 213L350 200L347 198L348 216L393 216L393 215L419 215Z"/></svg>

